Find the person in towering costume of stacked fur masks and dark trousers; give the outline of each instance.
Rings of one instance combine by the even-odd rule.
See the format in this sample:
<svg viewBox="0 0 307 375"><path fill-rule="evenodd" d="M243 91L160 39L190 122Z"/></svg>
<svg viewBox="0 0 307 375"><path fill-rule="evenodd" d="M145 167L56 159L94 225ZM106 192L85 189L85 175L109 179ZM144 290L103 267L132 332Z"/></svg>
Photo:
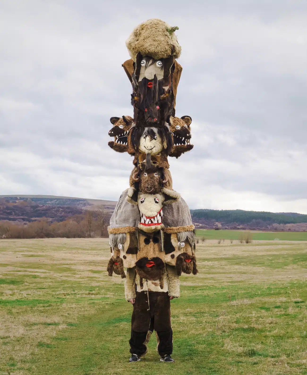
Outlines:
<svg viewBox="0 0 307 375"><path fill-rule="evenodd" d="M111 117L108 145L133 156L129 188L108 227L108 273L125 278L125 297L135 299L131 354L142 356L155 330L160 356L172 354L170 297L179 297L179 276L196 275L195 234L190 210L173 190L168 157L190 151L191 117L176 117L182 67L175 30L151 19L126 41L131 58L123 68L131 82L133 117Z"/></svg>

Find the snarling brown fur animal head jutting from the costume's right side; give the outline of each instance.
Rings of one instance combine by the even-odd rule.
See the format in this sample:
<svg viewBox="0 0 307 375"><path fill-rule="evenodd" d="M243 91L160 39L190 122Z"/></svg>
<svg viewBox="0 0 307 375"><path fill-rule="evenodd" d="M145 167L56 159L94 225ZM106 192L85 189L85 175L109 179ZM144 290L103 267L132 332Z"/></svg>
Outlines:
<svg viewBox="0 0 307 375"><path fill-rule="evenodd" d="M173 117L169 119L170 130L172 131L174 139L174 148L170 152L170 156L178 158L181 154L192 150L193 144L190 144L191 129L190 124L192 119L190 116Z"/></svg>

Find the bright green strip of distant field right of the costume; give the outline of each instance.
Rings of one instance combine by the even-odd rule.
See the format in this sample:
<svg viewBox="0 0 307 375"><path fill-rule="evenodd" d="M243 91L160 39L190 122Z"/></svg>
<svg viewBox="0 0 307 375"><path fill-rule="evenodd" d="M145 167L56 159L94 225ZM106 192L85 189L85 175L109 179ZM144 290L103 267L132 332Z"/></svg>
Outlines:
<svg viewBox="0 0 307 375"><path fill-rule="evenodd" d="M238 240L241 233L246 233L245 231L230 231L230 230L219 230L214 229L198 229L196 234L198 237L205 236L208 240ZM283 241L307 241L307 232L257 232L251 231L253 240L261 241L271 241L275 239Z"/></svg>

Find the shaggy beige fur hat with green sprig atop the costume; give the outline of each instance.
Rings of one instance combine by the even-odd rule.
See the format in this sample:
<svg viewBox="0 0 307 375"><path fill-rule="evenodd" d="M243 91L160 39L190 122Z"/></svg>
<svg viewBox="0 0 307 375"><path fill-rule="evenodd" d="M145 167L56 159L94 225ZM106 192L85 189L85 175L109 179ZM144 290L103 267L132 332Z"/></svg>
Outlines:
<svg viewBox="0 0 307 375"><path fill-rule="evenodd" d="M174 32L177 29L178 27L170 27L158 18L141 23L134 28L126 40L129 55L133 61L138 52L155 60L170 56L178 58L181 54L181 46Z"/></svg>

